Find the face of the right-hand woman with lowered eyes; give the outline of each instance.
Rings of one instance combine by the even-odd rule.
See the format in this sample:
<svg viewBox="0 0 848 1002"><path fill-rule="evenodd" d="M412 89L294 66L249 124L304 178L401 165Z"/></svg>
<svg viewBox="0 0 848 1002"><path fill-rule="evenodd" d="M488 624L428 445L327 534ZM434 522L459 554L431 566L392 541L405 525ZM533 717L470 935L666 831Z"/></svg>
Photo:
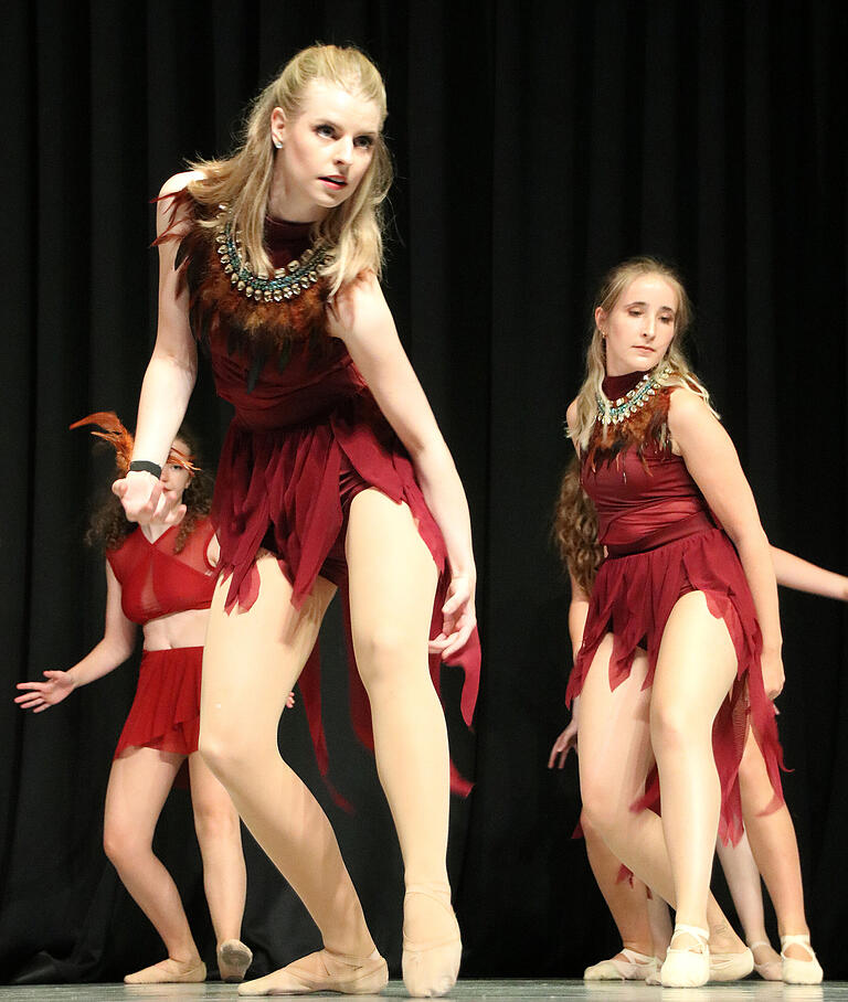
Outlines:
<svg viewBox="0 0 848 1002"><path fill-rule="evenodd" d="M661 275L640 275L607 313L595 310L606 334L606 373L645 372L660 362L677 330L677 292Z"/></svg>

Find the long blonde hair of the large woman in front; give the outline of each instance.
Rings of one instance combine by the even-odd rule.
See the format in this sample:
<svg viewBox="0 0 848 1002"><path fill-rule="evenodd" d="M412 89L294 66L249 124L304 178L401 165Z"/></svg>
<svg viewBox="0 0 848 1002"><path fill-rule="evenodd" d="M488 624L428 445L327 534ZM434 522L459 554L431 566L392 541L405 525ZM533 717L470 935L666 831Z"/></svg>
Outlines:
<svg viewBox="0 0 848 1002"><path fill-rule="evenodd" d="M194 160L203 178L189 182L192 198L216 215L225 205L233 227L241 231L247 260L254 271L273 274L263 243L268 192L276 150L271 137L271 114L280 108L286 120L301 113L306 88L312 82L331 84L373 102L380 129L368 167L353 194L315 224L314 239L330 253L322 274L336 294L367 269L378 276L383 265L383 201L392 183L392 161L382 135L386 116L385 86L377 66L352 46L311 45L298 52L251 105L242 145L220 160ZM206 213L209 215L210 213ZM215 227L215 218L201 221Z"/></svg>

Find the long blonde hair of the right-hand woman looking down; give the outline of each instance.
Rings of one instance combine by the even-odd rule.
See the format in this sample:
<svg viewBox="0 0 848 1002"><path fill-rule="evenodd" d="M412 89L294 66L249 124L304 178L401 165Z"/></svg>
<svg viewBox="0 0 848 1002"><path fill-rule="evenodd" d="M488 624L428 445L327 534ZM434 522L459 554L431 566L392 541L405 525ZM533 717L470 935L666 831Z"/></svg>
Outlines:
<svg viewBox="0 0 848 1002"><path fill-rule="evenodd" d="M595 310L600 307L608 315L630 283L644 275L660 276L677 292L675 335L666 349L665 355L651 371L658 372L668 364L671 373L665 385L683 386L687 390L691 390L710 406L710 394L692 372L683 350L685 338L692 322L693 310L679 275L670 265L656 257L632 257L616 265L606 274L592 307L592 333L589 350L586 351L586 375L576 397L576 418L574 424L569 427L569 437L579 446L581 451L585 451L589 447L592 428L597 415L597 399L598 397L605 399L602 384L606 375L606 341L595 323ZM716 414L712 407L710 409ZM716 416L718 417L718 414Z"/></svg>

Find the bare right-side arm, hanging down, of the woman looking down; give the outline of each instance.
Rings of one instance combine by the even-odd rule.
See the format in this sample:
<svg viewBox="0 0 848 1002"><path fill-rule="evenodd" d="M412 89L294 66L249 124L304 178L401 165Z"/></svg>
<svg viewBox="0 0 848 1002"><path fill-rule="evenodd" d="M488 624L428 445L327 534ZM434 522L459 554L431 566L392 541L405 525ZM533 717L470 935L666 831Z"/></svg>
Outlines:
<svg viewBox="0 0 848 1002"><path fill-rule="evenodd" d="M774 697L783 689L777 584L768 540L736 450L703 401L688 390L671 394L668 427L692 479L739 553L763 635L763 681Z"/></svg>

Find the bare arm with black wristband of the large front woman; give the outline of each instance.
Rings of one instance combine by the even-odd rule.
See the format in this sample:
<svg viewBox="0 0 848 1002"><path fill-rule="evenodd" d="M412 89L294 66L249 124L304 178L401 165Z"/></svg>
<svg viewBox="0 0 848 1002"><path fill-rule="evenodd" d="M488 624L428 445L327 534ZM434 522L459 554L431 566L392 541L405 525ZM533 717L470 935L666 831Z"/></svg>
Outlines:
<svg viewBox="0 0 848 1002"><path fill-rule="evenodd" d="M160 196L173 195L186 188L192 173L176 174L162 185ZM159 315L153 353L145 372L141 397L138 404L134 459L147 459L165 466L171 443L177 436L186 408L194 388L198 371L198 351L189 326L189 291L174 270L179 234L184 230L187 216L172 213L173 203L160 198L157 203L156 231L161 236L173 227L177 235L159 245ZM115 483L115 493L121 499L127 518L148 522L165 501L160 501L158 481L151 473L128 473ZM174 521L180 518L174 514Z"/></svg>

